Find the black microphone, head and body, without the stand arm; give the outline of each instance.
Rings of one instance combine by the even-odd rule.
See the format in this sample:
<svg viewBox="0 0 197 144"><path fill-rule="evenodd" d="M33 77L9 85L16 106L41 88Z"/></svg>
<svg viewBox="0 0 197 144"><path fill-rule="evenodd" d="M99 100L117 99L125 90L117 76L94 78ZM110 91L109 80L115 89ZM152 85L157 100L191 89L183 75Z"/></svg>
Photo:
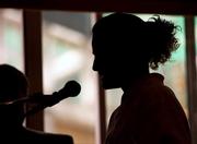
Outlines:
<svg viewBox="0 0 197 144"><path fill-rule="evenodd" d="M54 92L51 95L44 95L42 93L35 93L30 96L28 101L50 107L58 104L60 100L68 97L76 97L81 92L81 86L76 81L69 81L58 92Z"/></svg>

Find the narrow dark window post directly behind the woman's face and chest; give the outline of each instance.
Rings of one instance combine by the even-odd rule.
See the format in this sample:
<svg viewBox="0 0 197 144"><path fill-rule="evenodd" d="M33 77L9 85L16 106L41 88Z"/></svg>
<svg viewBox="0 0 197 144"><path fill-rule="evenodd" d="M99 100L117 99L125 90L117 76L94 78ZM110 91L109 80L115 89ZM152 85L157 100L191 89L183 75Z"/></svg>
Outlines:
<svg viewBox="0 0 197 144"><path fill-rule="evenodd" d="M96 13L96 21L102 17L102 13ZM99 80L99 144L105 143L106 137L106 103L105 103L105 91L101 86L101 79Z"/></svg>

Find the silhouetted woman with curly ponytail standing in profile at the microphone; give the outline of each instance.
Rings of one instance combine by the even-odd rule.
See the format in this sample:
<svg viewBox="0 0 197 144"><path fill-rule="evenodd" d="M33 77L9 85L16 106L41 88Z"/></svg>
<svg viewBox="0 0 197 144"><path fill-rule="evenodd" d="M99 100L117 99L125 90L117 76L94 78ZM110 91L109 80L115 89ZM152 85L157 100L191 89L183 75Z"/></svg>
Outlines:
<svg viewBox="0 0 197 144"><path fill-rule="evenodd" d="M93 70L105 89L124 91L106 144L190 144L185 112L164 76L150 73L178 48L177 26L160 16L144 22L113 13L93 26Z"/></svg>

